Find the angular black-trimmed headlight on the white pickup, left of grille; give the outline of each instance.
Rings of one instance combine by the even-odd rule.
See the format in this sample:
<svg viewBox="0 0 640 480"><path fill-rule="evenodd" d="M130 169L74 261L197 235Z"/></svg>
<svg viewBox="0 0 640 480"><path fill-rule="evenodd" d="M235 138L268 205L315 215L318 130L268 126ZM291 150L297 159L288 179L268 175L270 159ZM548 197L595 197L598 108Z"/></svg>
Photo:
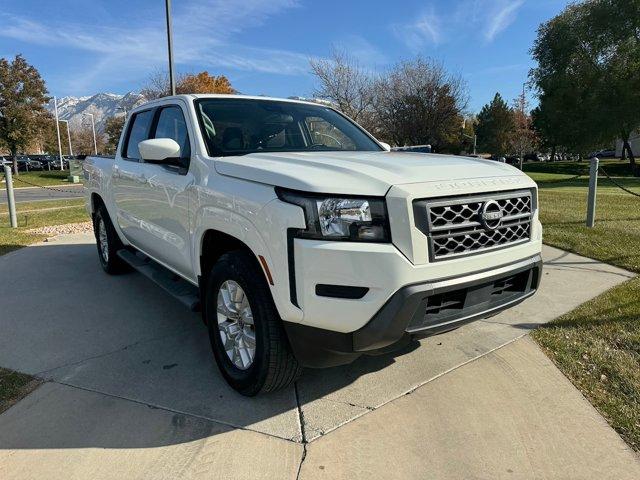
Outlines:
<svg viewBox="0 0 640 480"><path fill-rule="evenodd" d="M307 228L298 237L353 242L390 242L383 198L348 197L276 189L280 200L303 208Z"/></svg>

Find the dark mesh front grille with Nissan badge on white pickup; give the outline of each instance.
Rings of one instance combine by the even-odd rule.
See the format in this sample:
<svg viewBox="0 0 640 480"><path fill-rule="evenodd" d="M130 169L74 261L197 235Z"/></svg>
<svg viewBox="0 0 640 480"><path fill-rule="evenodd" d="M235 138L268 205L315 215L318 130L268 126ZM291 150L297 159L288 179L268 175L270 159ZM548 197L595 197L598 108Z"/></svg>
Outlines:
<svg viewBox="0 0 640 480"><path fill-rule="evenodd" d="M531 238L531 191L414 202L431 261L512 246Z"/></svg>

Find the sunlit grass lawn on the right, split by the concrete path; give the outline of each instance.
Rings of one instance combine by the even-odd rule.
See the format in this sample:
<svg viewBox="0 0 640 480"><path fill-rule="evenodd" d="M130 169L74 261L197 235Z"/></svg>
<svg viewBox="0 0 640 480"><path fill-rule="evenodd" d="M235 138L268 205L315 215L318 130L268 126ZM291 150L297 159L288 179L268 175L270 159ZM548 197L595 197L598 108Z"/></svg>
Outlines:
<svg viewBox="0 0 640 480"><path fill-rule="evenodd" d="M640 198L600 178L596 226L587 228L588 180L557 182L578 173L579 165L559 162L556 172L553 165L527 169L540 186L544 242L640 273ZM607 168L610 174L611 170ZM640 179L616 180L640 193ZM532 336L627 443L640 451L640 279L594 298Z"/></svg>

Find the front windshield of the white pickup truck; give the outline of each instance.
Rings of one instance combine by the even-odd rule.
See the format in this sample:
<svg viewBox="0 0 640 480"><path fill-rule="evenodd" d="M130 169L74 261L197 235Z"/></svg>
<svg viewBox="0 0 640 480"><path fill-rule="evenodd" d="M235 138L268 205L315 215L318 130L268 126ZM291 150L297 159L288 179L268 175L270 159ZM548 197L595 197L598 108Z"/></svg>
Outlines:
<svg viewBox="0 0 640 480"><path fill-rule="evenodd" d="M196 100L209 155L380 151L359 126L322 105L242 98Z"/></svg>

